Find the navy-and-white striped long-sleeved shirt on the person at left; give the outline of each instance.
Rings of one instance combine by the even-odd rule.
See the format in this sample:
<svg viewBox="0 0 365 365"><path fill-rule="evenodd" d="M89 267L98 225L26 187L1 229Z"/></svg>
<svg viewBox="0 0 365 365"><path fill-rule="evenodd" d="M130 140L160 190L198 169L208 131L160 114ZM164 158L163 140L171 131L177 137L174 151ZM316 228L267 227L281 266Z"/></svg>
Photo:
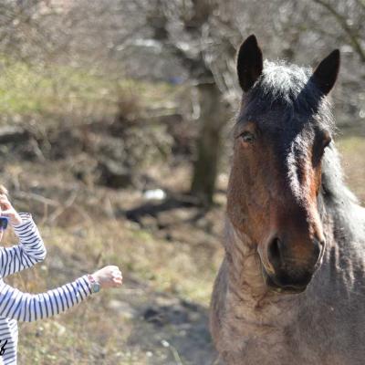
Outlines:
<svg viewBox="0 0 365 365"><path fill-rule="evenodd" d="M13 226L19 244L0 247L0 364L16 364L17 321L32 322L64 312L91 294L88 276L46 293L23 293L3 278L34 266L46 256L46 248L31 214L21 213L22 224Z"/></svg>

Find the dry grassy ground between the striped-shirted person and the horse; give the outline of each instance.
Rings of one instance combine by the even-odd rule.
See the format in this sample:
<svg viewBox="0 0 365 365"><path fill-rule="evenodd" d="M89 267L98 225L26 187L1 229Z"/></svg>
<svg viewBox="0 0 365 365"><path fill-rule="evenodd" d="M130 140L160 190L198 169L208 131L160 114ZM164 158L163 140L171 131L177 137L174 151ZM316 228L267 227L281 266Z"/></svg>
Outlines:
<svg viewBox="0 0 365 365"><path fill-rule="evenodd" d="M40 184L38 195L17 193L15 201L35 212L47 245L44 263L12 276L9 282L39 292L98 267L118 265L124 286L90 297L86 304L57 318L21 323L19 363L214 364L208 306L222 257L224 193L217 193L221 203L209 213L173 202L167 207L162 204L160 211L161 203L156 202L155 216L134 214L137 223L126 219L126 211L149 202L134 190L93 187L91 201L83 192L73 203L54 206L54 199L67 193L72 198L73 193L67 178L59 185L55 176L61 169L24 163L12 164L9 170L5 167L21 186L24 179ZM186 167L179 168L174 176L187 182L188 172ZM167 189L172 185L176 191L183 189L164 181ZM43 201L43 195L49 201ZM99 204L93 206L95 202Z"/></svg>

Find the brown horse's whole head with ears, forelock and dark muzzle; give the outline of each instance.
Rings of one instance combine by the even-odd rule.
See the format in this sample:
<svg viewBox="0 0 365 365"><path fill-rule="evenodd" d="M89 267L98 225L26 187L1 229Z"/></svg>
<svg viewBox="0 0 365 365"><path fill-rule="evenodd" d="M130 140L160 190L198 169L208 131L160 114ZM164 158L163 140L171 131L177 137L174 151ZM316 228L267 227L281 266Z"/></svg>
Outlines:
<svg viewBox="0 0 365 365"><path fill-rule="evenodd" d="M235 125L227 212L259 254L266 285L304 290L320 265L321 160L331 141L327 94L339 71L333 51L314 72L263 63L255 36L240 47L244 90Z"/></svg>

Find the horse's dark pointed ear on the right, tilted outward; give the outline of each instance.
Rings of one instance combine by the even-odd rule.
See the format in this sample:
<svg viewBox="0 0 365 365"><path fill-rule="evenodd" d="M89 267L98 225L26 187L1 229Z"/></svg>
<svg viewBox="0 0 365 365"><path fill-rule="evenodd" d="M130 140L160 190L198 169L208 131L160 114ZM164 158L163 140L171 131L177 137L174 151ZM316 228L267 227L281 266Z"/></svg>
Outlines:
<svg viewBox="0 0 365 365"><path fill-rule="evenodd" d="M323 94L327 95L335 85L338 75L339 49L335 49L319 63L313 72L312 78Z"/></svg>

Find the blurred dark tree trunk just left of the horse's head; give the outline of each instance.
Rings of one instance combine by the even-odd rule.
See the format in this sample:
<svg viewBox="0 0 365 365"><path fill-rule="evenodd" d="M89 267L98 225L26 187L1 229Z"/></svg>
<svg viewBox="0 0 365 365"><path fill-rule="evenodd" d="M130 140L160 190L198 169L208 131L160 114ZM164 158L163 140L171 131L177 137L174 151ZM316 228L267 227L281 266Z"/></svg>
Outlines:
<svg viewBox="0 0 365 365"><path fill-rule="evenodd" d="M221 152L221 131L225 124L221 91L212 83L198 87L201 129L196 141L197 159L193 165L191 193L209 207L214 202L214 188Z"/></svg>

